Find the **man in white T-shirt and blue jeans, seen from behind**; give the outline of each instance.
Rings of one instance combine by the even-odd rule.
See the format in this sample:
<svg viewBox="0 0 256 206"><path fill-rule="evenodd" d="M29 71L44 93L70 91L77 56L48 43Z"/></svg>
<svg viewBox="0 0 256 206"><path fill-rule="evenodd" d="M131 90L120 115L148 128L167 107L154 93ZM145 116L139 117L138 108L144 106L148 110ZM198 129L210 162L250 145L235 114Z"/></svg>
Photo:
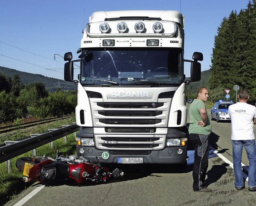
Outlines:
<svg viewBox="0 0 256 206"><path fill-rule="evenodd" d="M242 150L246 149L249 160L248 169L248 190L256 191L256 146L254 140L253 123L256 123L256 107L247 104L250 98L246 90L241 90L238 94L239 102L232 104L228 108L231 117L231 140L233 145L233 163L235 174L235 187L237 190L244 188L242 175Z"/></svg>

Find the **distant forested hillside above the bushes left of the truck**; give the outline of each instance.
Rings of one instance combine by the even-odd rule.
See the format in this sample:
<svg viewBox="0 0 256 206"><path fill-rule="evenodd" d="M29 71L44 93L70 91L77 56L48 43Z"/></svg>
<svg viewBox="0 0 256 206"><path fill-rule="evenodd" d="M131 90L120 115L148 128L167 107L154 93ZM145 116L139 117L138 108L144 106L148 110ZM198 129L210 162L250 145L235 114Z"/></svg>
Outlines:
<svg viewBox="0 0 256 206"><path fill-rule="evenodd" d="M66 82L65 80L45 77L43 75L32 74L27 72L18 71L15 69L10 69L6 67L0 67L0 72L12 78L14 75L19 75L22 83L24 85L29 84L31 82L42 82L45 85L45 88L48 92L55 92L58 87L62 90L76 90L77 86L73 82Z"/></svg>

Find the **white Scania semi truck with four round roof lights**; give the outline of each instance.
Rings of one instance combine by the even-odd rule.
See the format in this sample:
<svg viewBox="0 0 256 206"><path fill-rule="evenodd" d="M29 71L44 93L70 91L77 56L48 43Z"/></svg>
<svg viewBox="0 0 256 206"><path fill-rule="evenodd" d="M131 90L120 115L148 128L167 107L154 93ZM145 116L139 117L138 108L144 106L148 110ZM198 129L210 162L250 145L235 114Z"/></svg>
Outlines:
<svg viewBox="0 0 256 206"><path fill-rule="evenodd" d="M200 80L203 55L184 59L184 16L94 12L77 53L78 60L64 55L64 79L78 89L77 155L109 164L186 163L186 84Z"/></svg>

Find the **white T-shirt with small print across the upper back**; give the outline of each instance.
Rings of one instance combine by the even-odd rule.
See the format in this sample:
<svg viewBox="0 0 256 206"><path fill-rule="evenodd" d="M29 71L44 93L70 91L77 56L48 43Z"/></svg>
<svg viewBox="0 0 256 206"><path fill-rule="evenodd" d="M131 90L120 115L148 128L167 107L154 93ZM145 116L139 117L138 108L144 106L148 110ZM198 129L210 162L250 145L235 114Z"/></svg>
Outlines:
<svg viewBox="0 0 256 206"><path fill-rule="evenodd" d="M253 120L256 118L256 107L246 102L237 102L228 107L231 117L231 139L254 139Z"/></svg>

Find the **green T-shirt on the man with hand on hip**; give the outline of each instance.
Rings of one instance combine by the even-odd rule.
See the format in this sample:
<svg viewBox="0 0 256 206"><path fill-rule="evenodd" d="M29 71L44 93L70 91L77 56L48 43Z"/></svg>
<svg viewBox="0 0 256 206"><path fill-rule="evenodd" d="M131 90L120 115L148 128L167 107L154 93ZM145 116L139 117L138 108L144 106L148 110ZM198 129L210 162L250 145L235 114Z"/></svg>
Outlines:
<svg viewBox="0 0 256 206"><path fill-rule="evenodd" d="M200 115L200 108L207 108L202 100L195 99L189 108L189 118L190 124L188 128L188 132L190 134L203 134L203 135L210 135L212 131L211 121L209 118L209 112L207 112L207 123L206 126L201 127L197 121L201 121L202 117Z"/></svg>

